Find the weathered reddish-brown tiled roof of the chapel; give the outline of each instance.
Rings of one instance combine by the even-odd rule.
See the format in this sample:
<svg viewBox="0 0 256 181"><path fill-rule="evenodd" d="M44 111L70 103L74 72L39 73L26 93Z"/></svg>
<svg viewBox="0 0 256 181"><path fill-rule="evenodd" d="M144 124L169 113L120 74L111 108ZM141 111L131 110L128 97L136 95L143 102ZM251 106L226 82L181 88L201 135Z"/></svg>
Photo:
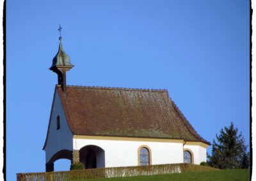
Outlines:
<svg viewBox="0 0 256 181"><path fill-rule="evenodd" d="M60 94L73 134L202 141L166 90L67 86Z"/></svg>

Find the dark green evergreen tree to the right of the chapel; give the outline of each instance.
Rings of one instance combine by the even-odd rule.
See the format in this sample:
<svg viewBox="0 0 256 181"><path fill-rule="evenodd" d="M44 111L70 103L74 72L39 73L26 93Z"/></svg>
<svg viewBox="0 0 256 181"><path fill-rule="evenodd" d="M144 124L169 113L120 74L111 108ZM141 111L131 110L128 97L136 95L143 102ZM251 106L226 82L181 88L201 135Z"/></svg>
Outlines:
<svg viewBox="0 0 256 181"><path fill-rule="evenodd" d="M209 164L214 168L248 168L248 152L244 137L238 133L231 122L229 127L221 129L220 136L216 134L212 143L212 156L208 156Z"/></svg>

